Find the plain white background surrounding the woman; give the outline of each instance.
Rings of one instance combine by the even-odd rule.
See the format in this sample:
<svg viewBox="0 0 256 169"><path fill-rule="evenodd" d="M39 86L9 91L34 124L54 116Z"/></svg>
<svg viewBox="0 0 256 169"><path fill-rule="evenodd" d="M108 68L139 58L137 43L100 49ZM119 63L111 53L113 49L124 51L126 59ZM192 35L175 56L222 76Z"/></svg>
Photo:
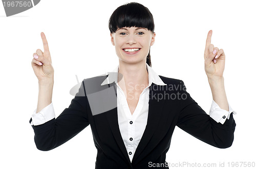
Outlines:
<svg viewBox="0 0 256 169"><path fill-rule="evenodd" d="M117 66L108 21L113 11L127 2L42 0L34 8L11 17L5 16L0 4L0 168L95 167L97 151L90 126L54 150L36 149L29 124L38 97L32 54L38 48L43 50L40 33L44 32L54 67L52 102L58 116L74 98L69 90L77 83L75 75L81 81ZM150 9L155 19L152 68L159 75L182 79L188 93L207 113L212 95L203 53L207 33L213 31L211 43L226 54L228 102L238 113L234 116L237 127L230 148L212 147L177 127L166 161L217 166L225 162L226 167L232 161L256 162L253 1L137 2Z"/></svg>

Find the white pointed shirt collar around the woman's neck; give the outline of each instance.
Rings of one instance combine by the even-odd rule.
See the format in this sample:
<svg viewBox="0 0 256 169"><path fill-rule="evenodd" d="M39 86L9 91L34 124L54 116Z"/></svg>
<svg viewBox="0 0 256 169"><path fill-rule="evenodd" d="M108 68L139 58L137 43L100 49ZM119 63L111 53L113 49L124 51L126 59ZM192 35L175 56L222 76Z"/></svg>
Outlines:
<svg viewBox="0 0 256 169"><path fill-rule="evenodd" d="M148 86L151 86L152 83L155 83L156 85L161 85L161 86L167 85L162 81L162 79L158 76L158 74L150 66L148 66L147 63L146 63L146 69L148 72ZM101 83L100 86L113 83L114 81L115 83L117 83L118 70L119 70L119 65L112 72L106 73L106 75L109 75L109 76Z"/></svg>

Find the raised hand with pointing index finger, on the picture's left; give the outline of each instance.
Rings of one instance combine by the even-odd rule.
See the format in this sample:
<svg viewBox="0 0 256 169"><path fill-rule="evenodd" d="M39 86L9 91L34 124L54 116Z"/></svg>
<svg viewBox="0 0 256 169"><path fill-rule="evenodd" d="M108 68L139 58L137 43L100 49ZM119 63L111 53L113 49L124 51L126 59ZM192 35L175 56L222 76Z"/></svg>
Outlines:
<svg viewBox="0 0 256 169"><path fill-rule="evenodd" d="M43 32L41 33L41 38L42 44L44 45L44 52L42 52L40 49L37 49L36 53L33 53L33 60L31 65L39 83L51 83L53 82L54 70L48 42Z"/></svg>

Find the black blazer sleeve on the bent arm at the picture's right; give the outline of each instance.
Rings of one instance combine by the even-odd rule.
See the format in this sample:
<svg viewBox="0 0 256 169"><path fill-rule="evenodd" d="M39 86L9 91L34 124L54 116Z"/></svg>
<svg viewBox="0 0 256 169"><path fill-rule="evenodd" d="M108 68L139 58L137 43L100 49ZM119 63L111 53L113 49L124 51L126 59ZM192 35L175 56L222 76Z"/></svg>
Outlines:
<svg viewBox="0 0 256 169"><path fill-rule="evenodd" d="M236 127L232 113L224 124L217 123L190 97L182 80L181 84L184 90L181 91L183 99L180 100L177 126L211 146L230 147L233 143Z"/></svg>

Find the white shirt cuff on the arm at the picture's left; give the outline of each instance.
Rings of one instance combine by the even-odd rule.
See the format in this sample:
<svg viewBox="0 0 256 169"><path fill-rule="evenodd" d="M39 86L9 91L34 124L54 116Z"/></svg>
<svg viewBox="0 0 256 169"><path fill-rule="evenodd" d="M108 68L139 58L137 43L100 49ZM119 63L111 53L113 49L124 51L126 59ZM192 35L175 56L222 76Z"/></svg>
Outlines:
<svg viewBox="0 0 256 169"><path fill-rule="evenodd" d="M52 120L53 118L55 118L55 113L54 113L54 109L53 109L53 104L51 102L51 104L49 104L48 106L46 106L45 108L43 108L41 111L36 113L36 109L33 111L32 114L32 121L31 121L31 125L37 126L40 124L44 124L50 120Z"/></svg>

